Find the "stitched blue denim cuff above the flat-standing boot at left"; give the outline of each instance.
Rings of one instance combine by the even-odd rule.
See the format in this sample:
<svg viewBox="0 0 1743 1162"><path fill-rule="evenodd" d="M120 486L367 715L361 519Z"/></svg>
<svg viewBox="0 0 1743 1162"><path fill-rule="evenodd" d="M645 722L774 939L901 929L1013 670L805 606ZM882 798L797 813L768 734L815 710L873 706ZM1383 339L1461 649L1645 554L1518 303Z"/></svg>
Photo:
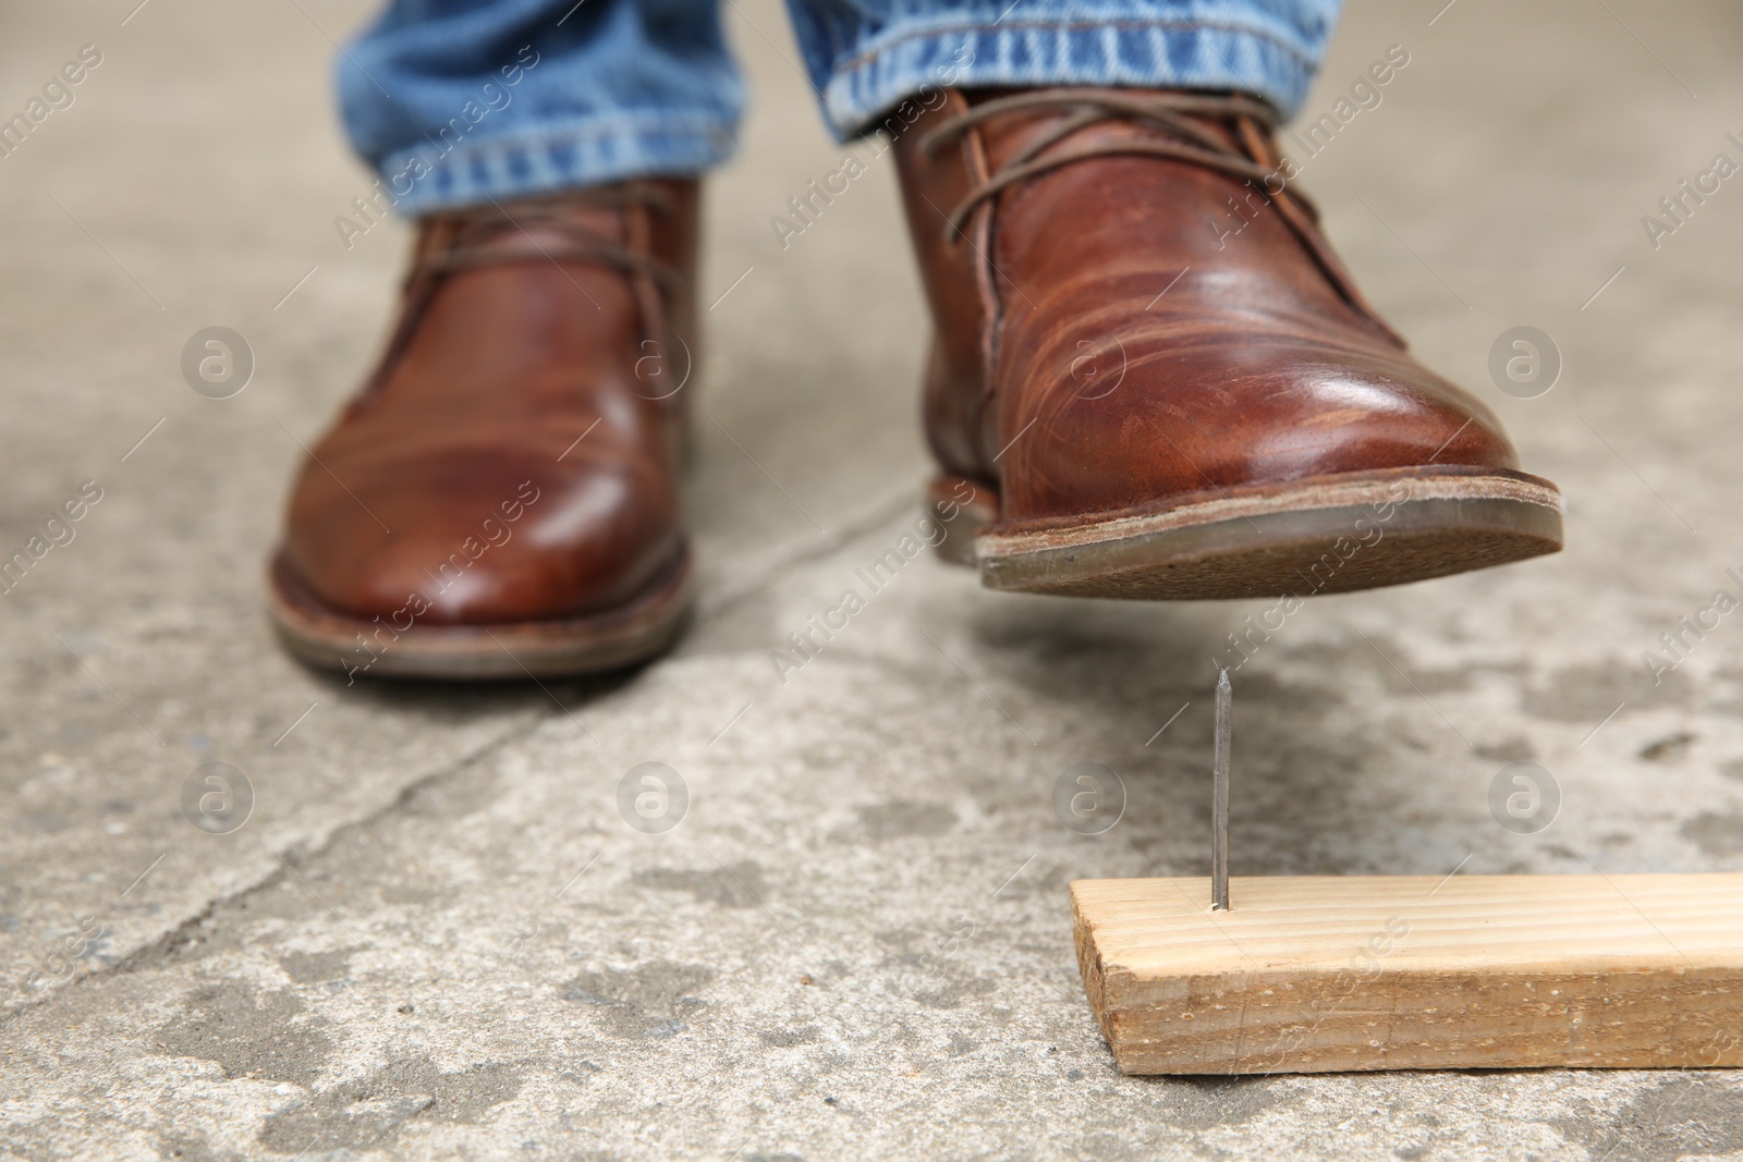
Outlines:
<svg viewBox="0 0 1743 1162"><path fill-rule="evenodd" d="M725 115L621 113L457 143L437 138L390 153L380 172L394 207L415 218L627 178L690 178L723 162L736 143L737 125Z"/></svg>

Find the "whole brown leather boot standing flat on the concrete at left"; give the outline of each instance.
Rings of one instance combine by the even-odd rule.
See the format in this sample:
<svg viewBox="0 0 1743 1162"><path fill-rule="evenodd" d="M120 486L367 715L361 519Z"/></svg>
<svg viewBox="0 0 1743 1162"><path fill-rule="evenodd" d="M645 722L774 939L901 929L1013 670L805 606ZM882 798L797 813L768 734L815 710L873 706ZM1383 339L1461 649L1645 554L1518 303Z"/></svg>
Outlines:
<svg viewBox="0 0 1743 1162"><path fill-rule="evenodd" d="M303 463L270 566L298 657L525 678L673 641L695 249L694 181L422 220L387 352Z"/></svg>

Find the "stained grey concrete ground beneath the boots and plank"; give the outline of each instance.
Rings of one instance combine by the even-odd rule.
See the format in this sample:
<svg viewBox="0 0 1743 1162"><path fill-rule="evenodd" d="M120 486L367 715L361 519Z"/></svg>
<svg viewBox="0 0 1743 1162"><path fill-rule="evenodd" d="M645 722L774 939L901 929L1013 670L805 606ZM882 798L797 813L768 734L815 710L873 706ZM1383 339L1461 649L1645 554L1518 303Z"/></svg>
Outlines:
<svg viewBox="0 0 1743 1162"><path fill-rule="evenodd" d="M777 681L770 650L912 526L926 456L887 159L790 249L769 226L845 152L772 0L729 12L756 98L708 211L704 294L732 291L690 638L549 690L286 660L261 559L406 240L333 226L368 176L328 57L366 12L134 3L0 3L0 113L103 54L0 159L0 549L101 488L0 610L9 1157L1743 1157L1736 1073L1116 1073L1065 885L1204 868L1208 657L1265 603L1009 598L919 559ZM1354 5L1311 115L1387 45L1410 63L1304 183L1562 483L1569 549L1290 618L1236 676L1236 875L1743 868L1743 627L1642 681L1743 592L1743 185L1658 249L1640 221L1743 160L1743 16L1441 3ZM258 362L223 401L178 364L213 324ZM1490 382L1515 326L1563 361L1536 399ZM1536 834L1489 810L1523 760L1562 794ZM181 808L209 761L253 787L230 834ZM617 808L643 761L688 787L664 834ZM1107 834L1053 814L1079 761L1128 789Z"/></svg>

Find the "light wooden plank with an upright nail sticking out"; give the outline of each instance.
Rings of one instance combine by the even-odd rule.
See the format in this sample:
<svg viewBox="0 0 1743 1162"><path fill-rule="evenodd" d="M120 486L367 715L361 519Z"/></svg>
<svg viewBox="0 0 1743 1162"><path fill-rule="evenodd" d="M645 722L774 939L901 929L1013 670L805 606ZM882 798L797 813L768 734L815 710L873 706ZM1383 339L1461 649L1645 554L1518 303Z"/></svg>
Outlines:
<svg viewBox="0 0 1743 1162"><path fill-rule="evenodd" d="M1743 1066L1743 875L1072 883L1126 1073Z"/></svg>

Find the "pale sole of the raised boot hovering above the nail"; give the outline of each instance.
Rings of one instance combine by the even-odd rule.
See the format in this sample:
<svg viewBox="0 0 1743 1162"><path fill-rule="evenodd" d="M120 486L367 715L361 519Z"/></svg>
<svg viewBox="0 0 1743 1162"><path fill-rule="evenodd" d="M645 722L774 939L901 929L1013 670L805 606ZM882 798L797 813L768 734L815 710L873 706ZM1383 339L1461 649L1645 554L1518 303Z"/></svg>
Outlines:
<svg viewBox="0 0 1743 1162"><path fill-rule="evenodd" d="M962 488L974 502L950 505ZM1189 601L1405 585L1562 549L1562 493L1506 469L1386 469L1229 488L1081 519L997 519L939 477L939 556L988 589Z"/></svg>

